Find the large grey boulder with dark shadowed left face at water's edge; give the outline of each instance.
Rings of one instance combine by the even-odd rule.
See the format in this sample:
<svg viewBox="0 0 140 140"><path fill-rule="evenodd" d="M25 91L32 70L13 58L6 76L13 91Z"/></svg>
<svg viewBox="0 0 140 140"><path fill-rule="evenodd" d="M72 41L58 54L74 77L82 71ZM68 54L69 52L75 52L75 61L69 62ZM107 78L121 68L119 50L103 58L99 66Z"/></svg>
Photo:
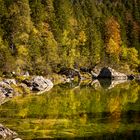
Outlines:
<svg viewBox="0 0 140 140"><path fill-rule="evenodd" d="M97 78L110 78L110 79L115 79L115 80L127 80L128 79L126 74L117 72L110 67L102 68Z"/></svg>

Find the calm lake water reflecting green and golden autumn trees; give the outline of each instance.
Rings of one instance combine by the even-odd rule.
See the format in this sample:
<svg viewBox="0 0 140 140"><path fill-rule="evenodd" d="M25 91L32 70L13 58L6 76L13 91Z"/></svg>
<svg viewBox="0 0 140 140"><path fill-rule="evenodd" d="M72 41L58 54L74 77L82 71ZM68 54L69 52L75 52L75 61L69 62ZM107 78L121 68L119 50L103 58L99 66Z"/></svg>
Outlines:
<svg viewBox="0 0 140 140"><path fill-rule="evenodd" d="M23 140L138 140L140 83L111 83L60 84L41 95L15 97L0 106L0 123Z"/></svg>

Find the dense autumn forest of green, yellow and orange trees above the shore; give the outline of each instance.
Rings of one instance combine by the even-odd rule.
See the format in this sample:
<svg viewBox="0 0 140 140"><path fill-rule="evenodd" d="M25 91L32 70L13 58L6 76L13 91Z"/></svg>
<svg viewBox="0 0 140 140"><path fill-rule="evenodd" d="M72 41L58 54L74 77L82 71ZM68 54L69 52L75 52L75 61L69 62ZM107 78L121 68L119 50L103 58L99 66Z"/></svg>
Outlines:
<svg viewBox="0 0 140 140"><path fill-rule="evenodd" d="M0 70L140 65L139 0L0 0Z"/></svg>

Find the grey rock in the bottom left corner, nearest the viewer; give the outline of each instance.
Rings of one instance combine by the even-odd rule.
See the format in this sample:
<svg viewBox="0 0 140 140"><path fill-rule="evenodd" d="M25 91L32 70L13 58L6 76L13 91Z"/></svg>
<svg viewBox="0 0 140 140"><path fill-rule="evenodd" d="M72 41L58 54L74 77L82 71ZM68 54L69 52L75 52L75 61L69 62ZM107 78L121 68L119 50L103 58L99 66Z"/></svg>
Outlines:
<svg viewBox="0 0 140 140"><path fill-rule="evenodd" d="M0 124L0 139L12 140L17 137L17 133Z"/></svg>

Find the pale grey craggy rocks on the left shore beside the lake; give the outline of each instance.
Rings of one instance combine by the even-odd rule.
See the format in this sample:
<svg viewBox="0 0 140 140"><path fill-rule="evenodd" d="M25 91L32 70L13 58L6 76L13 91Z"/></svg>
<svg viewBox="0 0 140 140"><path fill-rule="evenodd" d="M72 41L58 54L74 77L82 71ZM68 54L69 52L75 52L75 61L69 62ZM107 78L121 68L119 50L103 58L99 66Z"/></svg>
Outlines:
<svg viewBox="0 0 140 140"><path fill-rule="evenodd" d="M3 79L0 81L0 105L7 102L13 96L19 96L17 89L29 89L31 92L43 93L49 91L53 83L43 76L34 76L30 80L16 81L15 79Z"/></svg>

